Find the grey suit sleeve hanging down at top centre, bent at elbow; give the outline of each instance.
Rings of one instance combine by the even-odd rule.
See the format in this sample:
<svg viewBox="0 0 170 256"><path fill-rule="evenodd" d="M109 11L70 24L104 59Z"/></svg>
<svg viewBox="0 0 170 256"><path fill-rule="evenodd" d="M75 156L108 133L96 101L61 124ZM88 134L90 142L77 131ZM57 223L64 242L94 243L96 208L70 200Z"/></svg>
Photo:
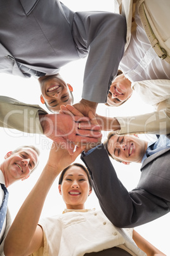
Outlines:
<svg viewBox="0 0 170 256"><path fill-rule="evenodd" d="M82 98L106 103L110 84L124 54L126 19L115 13L88 11L75 13L74 23L80 32L74 34L74 38L81 38L79 51L81 48L88 51Z"/></svg>

